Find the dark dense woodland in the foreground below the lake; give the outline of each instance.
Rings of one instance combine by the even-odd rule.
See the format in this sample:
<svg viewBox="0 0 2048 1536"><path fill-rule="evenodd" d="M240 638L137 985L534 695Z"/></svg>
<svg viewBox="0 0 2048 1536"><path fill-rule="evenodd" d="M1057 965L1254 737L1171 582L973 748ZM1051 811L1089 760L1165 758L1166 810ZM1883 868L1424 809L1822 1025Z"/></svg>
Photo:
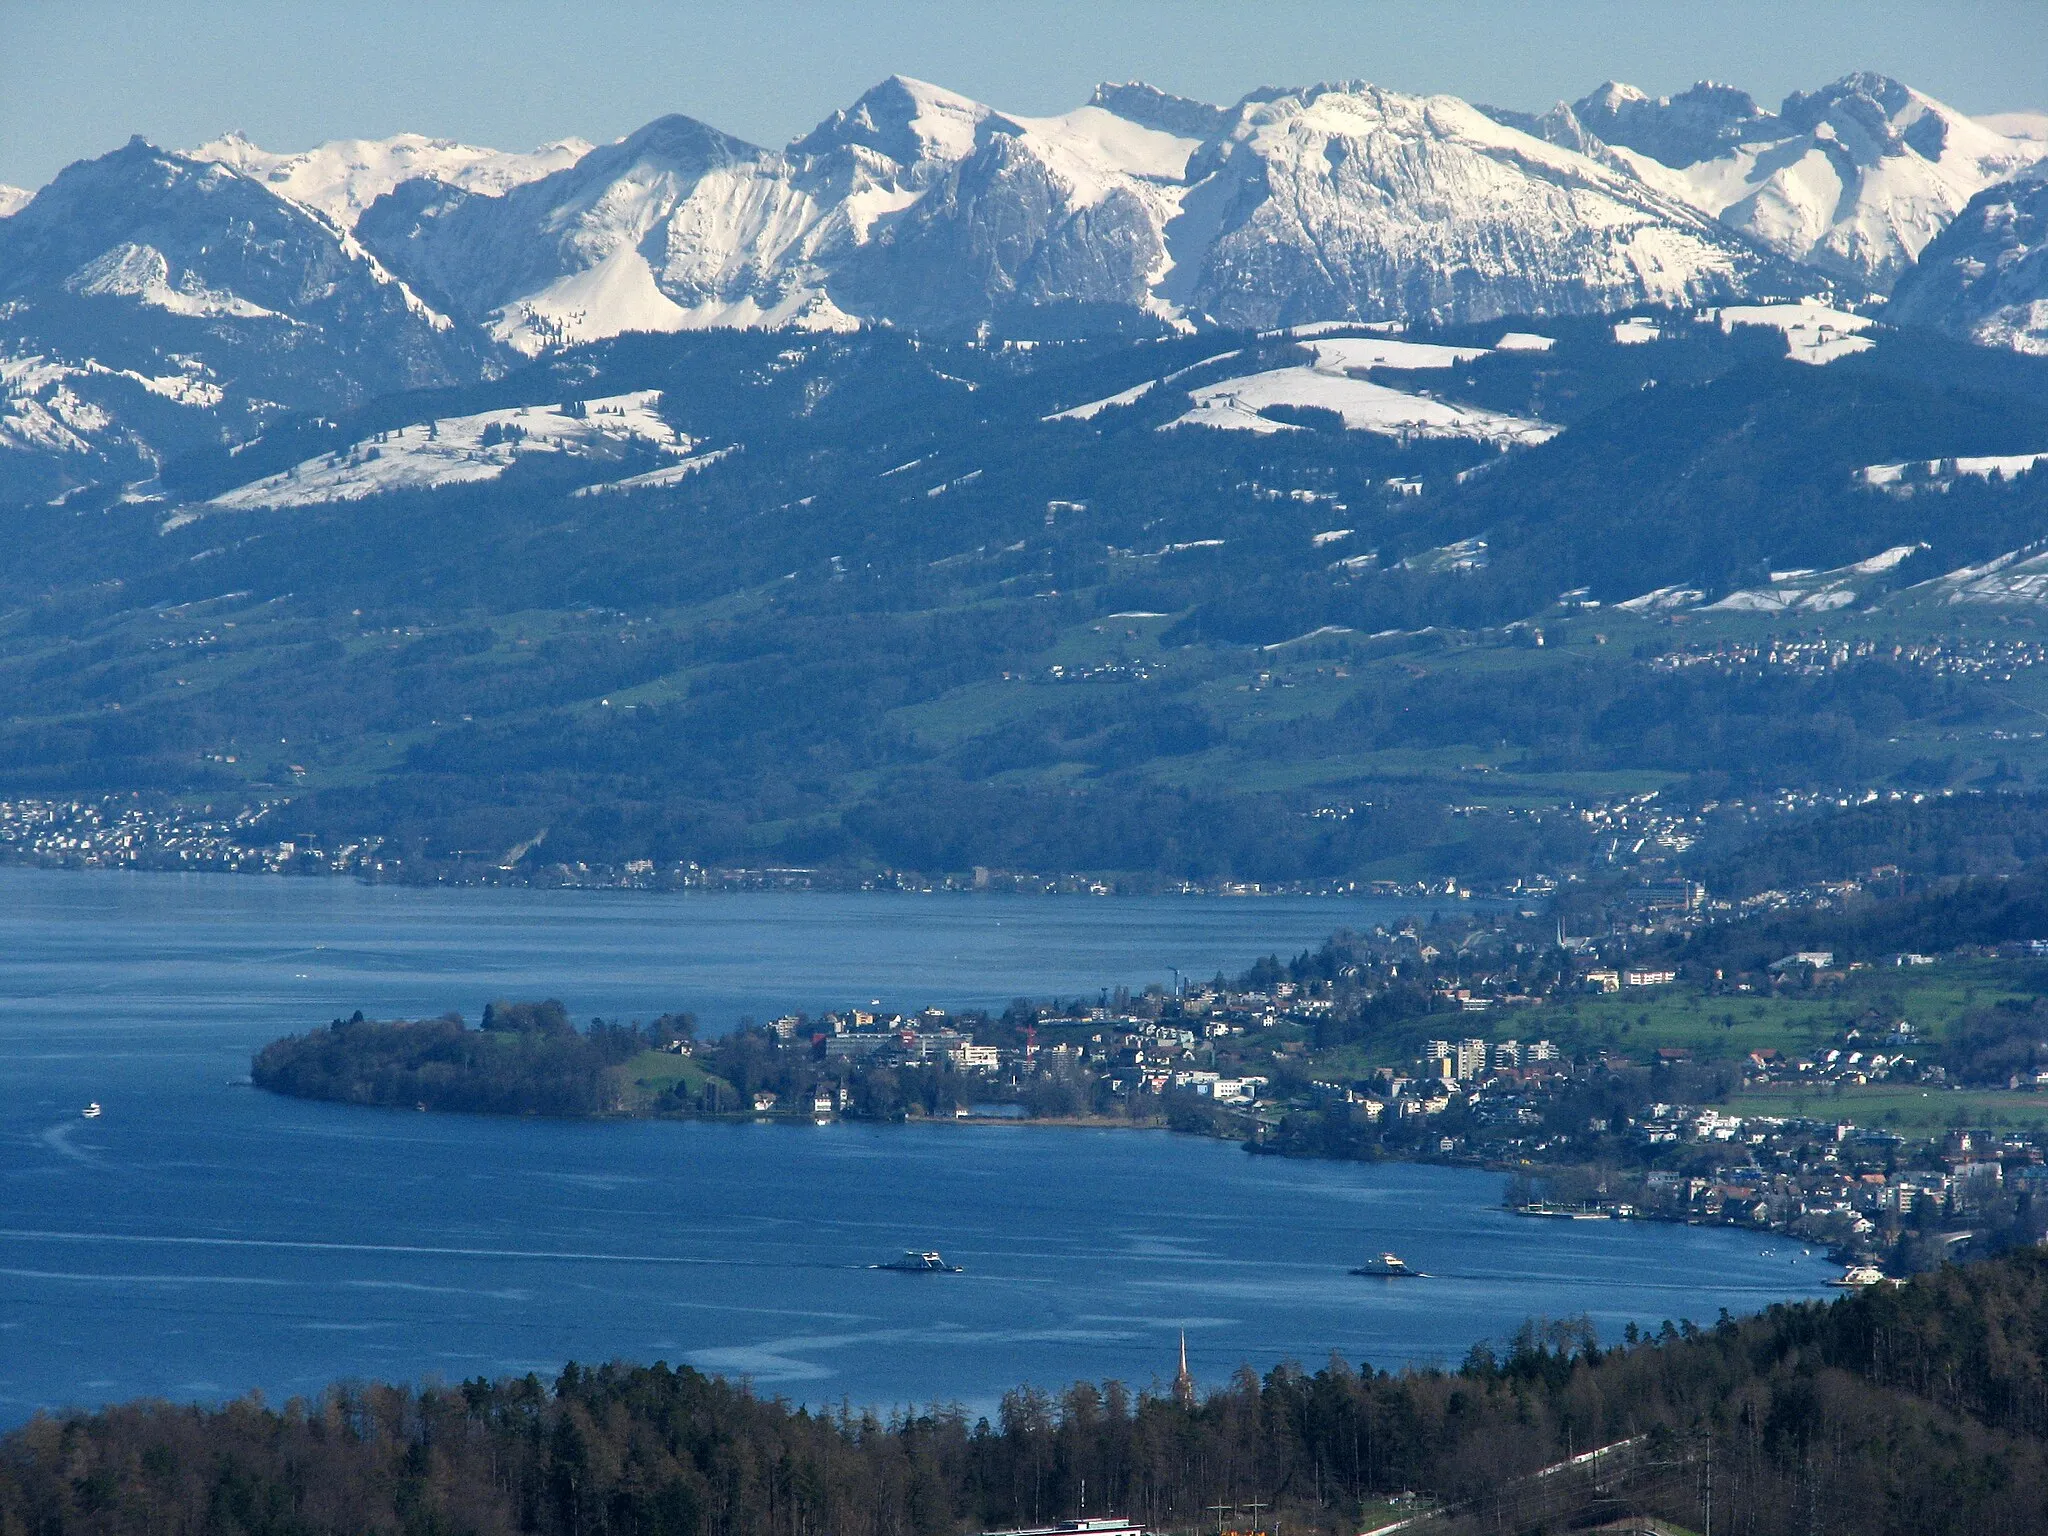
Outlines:
<svg viewBox="0 0 2048 1536"><path fill-rule="evenodd" d="M2001 1536L2048 1509L2048 1253L1602 1350L1528 1325L1458 1370L1239 1370L1184 1407L1116 1382L805 1411L670 1366L555 1382L338 1386L283 1407L133 1403L0 1442L6 1532L678 1532L952 1536L1087 1507L1196 1530L1425 1530L1655 1513L1751 1536ZM1632 1442L1604 1475L1528 1475ZM1712 1468L1708 1477L1708 1468Z"/></svg>

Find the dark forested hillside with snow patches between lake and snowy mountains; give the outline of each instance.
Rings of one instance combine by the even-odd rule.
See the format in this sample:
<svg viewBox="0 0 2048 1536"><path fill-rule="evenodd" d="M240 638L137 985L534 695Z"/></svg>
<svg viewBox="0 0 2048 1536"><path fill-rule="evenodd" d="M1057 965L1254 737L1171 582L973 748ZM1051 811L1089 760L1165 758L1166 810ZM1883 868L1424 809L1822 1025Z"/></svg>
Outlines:
<svg viewBox="0 0 2048 1536"><path fill-rule="evenodd" d="M401 872L1157 885L2048 774L2048 360L1511 324L623 336L291 418L8 512L0 797L289 803Z"/></svg>

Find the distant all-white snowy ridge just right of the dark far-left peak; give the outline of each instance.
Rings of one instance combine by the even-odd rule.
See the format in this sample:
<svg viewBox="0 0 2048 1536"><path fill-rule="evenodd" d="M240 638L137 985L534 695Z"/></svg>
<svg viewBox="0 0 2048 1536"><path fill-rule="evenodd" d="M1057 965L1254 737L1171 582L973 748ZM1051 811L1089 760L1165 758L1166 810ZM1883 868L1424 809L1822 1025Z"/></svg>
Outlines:
<svg viewBox="0 0 2048 1536"><path fill-rule="evenodd" d="M389 139L334 139L297 154L274 154L236 131L184 154L188 160L233 166L279 197L317 209L342 229L352 229L362 209L399 182L428 178L465 193L502 197L514 186L573 166L590 154L590 143L557 139L520 154L397 133Z"/></svg>

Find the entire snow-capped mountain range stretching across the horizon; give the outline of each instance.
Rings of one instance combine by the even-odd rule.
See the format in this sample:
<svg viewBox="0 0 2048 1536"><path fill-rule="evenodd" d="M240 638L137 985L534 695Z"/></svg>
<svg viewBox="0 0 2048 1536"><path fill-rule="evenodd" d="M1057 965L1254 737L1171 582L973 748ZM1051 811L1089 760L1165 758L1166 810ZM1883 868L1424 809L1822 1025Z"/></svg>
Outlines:
<svg viewBox="0 0 2048 1536"><path fill-rule="evenodd" d="M281 410L623 332L1853 299L2040 164L2048 119L1978 123L1882 76L1778 113L1724 86L1608 84L1542 117L1364 82L1233 106L1120 84L1028 117L891 78L780 150L688 117L522 154L135 139L35 195L0 188L0 449L70 455L61 483L147 473ZM1989 217L1978 244L2005 238ZM2038 334L2038 262L1999 260L1995 295L1917 303L1982 340Z"/></svg>

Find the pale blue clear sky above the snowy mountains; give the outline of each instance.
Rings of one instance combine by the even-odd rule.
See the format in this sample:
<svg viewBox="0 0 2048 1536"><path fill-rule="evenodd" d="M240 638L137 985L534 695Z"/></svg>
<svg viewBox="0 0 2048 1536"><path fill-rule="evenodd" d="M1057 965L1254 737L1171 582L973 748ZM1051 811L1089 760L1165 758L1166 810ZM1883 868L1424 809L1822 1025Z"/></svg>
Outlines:
<svg viewBox="0 0 2048 1536"><path fill-rule="evenodd" d="M2048 109L2048 0L0 0L0 182L231 127L274 150L406 129L510 150L688 113L782 143L891 72L1053 113L1128 78L1530 109L1714 78L1776 106L1849 70L1968 113Z"/></svg>

